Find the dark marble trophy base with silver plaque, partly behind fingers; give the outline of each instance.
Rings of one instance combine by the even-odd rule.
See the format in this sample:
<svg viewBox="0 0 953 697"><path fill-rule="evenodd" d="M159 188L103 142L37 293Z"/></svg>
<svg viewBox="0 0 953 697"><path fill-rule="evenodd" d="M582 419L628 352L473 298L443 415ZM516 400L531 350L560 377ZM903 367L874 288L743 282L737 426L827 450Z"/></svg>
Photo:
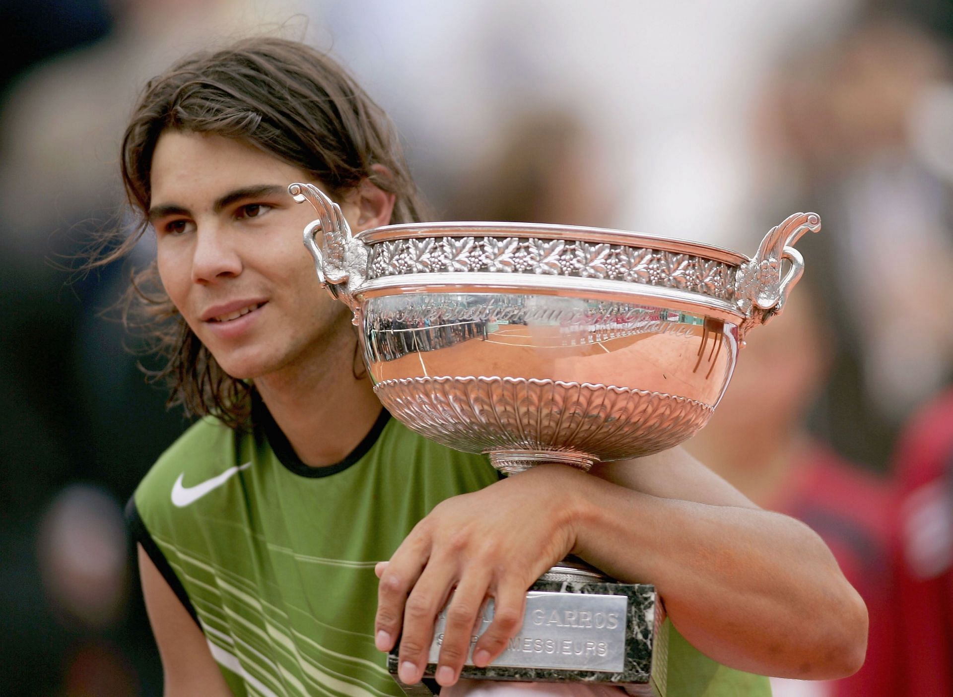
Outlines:
<svg viewBox="0 0 953 697"><path fill-rule="evenodd" d="M623 687L632 695L665 697L668 626L664 619L654 586L598 580L596 574L580 573L577 568L555 567L530 588L523 626L497 660L482 668L468 661L460 677L598 683ZM476 638L492 620L491 601L471 639L470 660ZM439 691L434 674L444 622L441 613L422 682L401 683L396 647L388 655L388 670L405 693L430 697Z"/></svg>

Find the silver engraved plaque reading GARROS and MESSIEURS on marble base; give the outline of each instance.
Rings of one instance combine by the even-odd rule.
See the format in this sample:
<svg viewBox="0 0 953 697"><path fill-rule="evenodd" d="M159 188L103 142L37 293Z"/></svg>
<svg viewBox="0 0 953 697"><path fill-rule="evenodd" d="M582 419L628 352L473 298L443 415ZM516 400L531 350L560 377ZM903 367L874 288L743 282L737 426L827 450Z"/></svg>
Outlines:
<svg viewBox="0 0 953 697"><path fill-rule="evenodd" d="M526 594L523 626L493 665L621 672L627 605L624 595L530 591ZM430 647L430 663L436 663L439 656L446 622L446 613L441 612ZM476 639L491 622L492 600L484 607L471 637L468 665L473 664Z"/></svg>

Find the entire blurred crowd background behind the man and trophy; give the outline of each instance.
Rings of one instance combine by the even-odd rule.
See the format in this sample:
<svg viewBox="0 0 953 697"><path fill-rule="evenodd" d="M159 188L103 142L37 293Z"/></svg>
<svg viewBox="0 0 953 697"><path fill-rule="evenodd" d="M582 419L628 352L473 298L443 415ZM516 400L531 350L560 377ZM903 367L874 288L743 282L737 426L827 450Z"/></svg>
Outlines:
<svg viewBox="0 0 953 697"><path fill-rule="evenodd" d="M688 447L816 529L870 609L857 676L778 697L953 694L953 3L4 0L0 31L0 693L161 694L122 508L187 422L110 310L152 242L71 269L125 224L145 81L269 32L355 72L437 219L752 254L819 212Z"/></svg>

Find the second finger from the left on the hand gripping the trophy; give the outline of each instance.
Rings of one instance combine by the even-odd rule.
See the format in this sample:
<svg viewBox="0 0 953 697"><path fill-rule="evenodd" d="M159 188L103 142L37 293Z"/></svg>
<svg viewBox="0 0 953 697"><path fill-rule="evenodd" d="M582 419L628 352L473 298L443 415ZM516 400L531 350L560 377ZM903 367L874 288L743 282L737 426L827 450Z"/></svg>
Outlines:
<svg viewBox="0 0 953 697"><path fill-rule="evenodd" d="M431 559L407 597L397 666L401 682L420 682L434 639L436 613L447 602L455 582L456 561Z"/></svg>

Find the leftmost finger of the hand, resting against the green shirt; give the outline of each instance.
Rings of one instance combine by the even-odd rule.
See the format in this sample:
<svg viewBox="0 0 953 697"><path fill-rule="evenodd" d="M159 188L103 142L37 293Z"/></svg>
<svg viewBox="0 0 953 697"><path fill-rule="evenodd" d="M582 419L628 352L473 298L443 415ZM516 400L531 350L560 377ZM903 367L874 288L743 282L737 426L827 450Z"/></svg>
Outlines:
<svg viewBox="0 0 953 697"><path fill-rule="evenodd" d="M429 537L412 531L394 552L390 562L378 574L377 613L374 620L374 644L378 651L394 648L400 635L407 595L427 563ZM375 566L375 573L380 565Z"/></svg>

